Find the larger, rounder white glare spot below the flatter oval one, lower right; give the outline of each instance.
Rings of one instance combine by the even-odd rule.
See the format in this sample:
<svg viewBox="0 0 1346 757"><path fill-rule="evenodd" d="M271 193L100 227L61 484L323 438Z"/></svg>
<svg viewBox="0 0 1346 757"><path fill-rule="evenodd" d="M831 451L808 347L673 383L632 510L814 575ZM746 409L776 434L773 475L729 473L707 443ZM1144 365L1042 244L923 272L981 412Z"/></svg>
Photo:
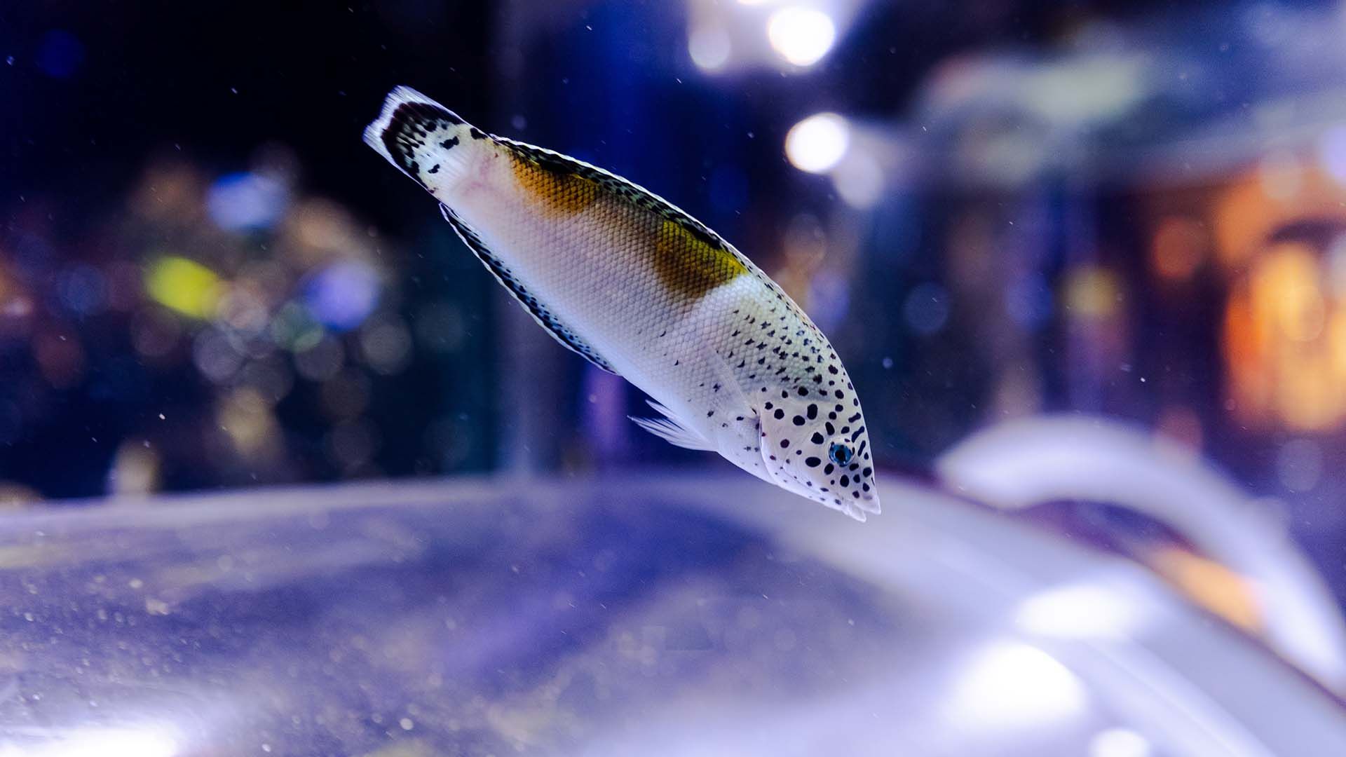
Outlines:
<svg viewBox="0 0 1346 757"><path fill-rule="evenodd" d="M1049 725L1078 714L1085 687L1051 655L999 641L968 660L950 698L949 717L987 729Z"/></svg>

